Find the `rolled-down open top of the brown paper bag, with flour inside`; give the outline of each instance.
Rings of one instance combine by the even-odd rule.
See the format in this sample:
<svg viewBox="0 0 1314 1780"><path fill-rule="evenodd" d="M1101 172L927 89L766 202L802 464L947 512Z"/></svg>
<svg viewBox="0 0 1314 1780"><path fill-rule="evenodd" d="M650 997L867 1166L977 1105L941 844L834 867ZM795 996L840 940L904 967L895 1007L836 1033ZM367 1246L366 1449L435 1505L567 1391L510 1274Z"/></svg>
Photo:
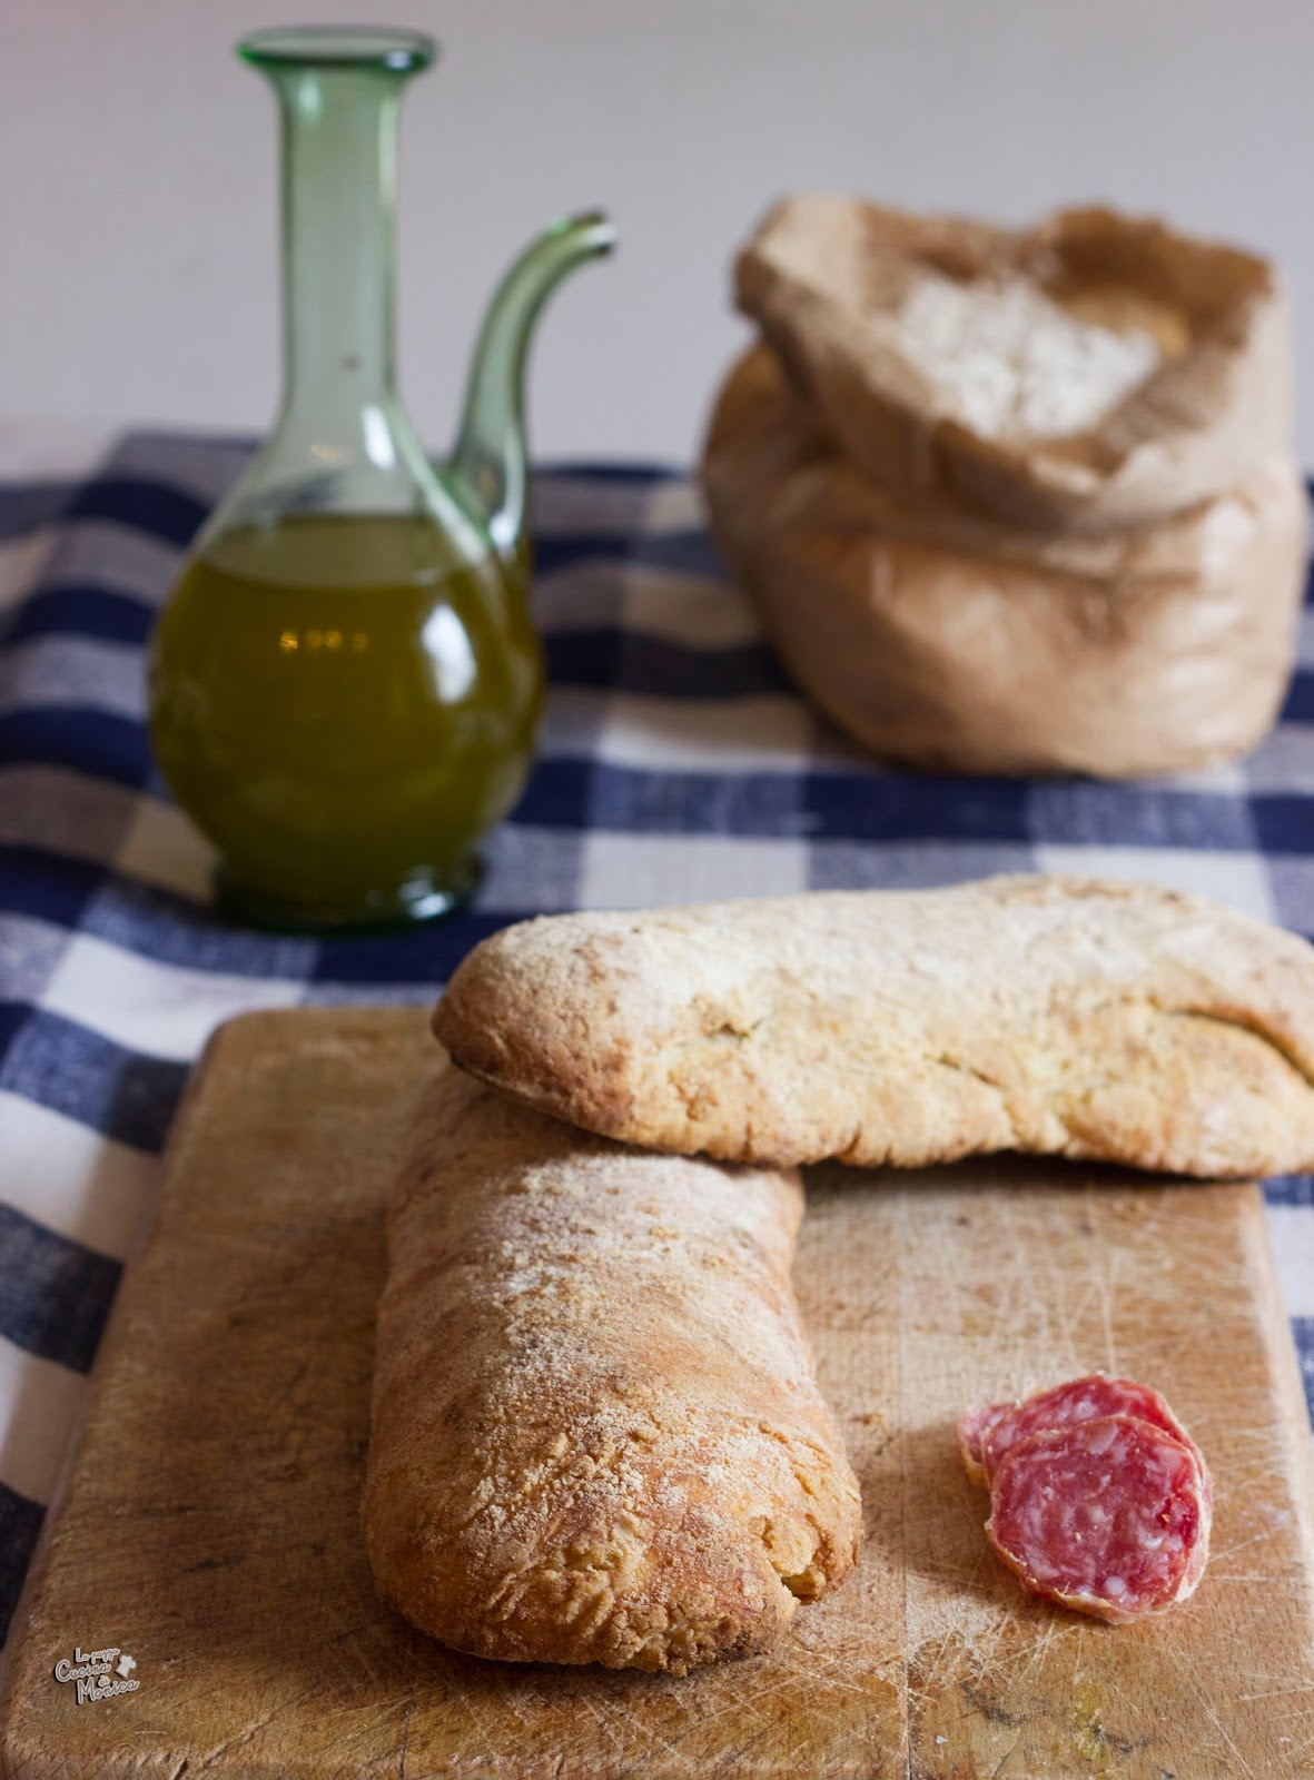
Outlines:
<svg viewBox="0 0 1314 1780"><path fill-rule="evenodd" d="M1289 443L1273 267L1154 219L1061 210L1011 231L789 198L735 295L848 459L1010 525L1143 525Z"/></svg>

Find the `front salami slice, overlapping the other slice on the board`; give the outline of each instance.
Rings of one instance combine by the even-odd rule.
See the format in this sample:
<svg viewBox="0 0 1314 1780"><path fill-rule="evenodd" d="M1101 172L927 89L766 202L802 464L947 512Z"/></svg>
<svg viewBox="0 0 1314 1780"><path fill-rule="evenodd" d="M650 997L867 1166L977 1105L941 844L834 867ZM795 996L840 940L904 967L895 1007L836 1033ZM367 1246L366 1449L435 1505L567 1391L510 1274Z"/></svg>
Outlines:
<svg viewBox="0 0 1314 1780"><path fill-rule="evenodd" d="M1125 1623L1195 1590L1209 1520L1189 1447L1136 1417L1097 1415L1010 1447L986 1533L1031 1593Z"/></svg>

